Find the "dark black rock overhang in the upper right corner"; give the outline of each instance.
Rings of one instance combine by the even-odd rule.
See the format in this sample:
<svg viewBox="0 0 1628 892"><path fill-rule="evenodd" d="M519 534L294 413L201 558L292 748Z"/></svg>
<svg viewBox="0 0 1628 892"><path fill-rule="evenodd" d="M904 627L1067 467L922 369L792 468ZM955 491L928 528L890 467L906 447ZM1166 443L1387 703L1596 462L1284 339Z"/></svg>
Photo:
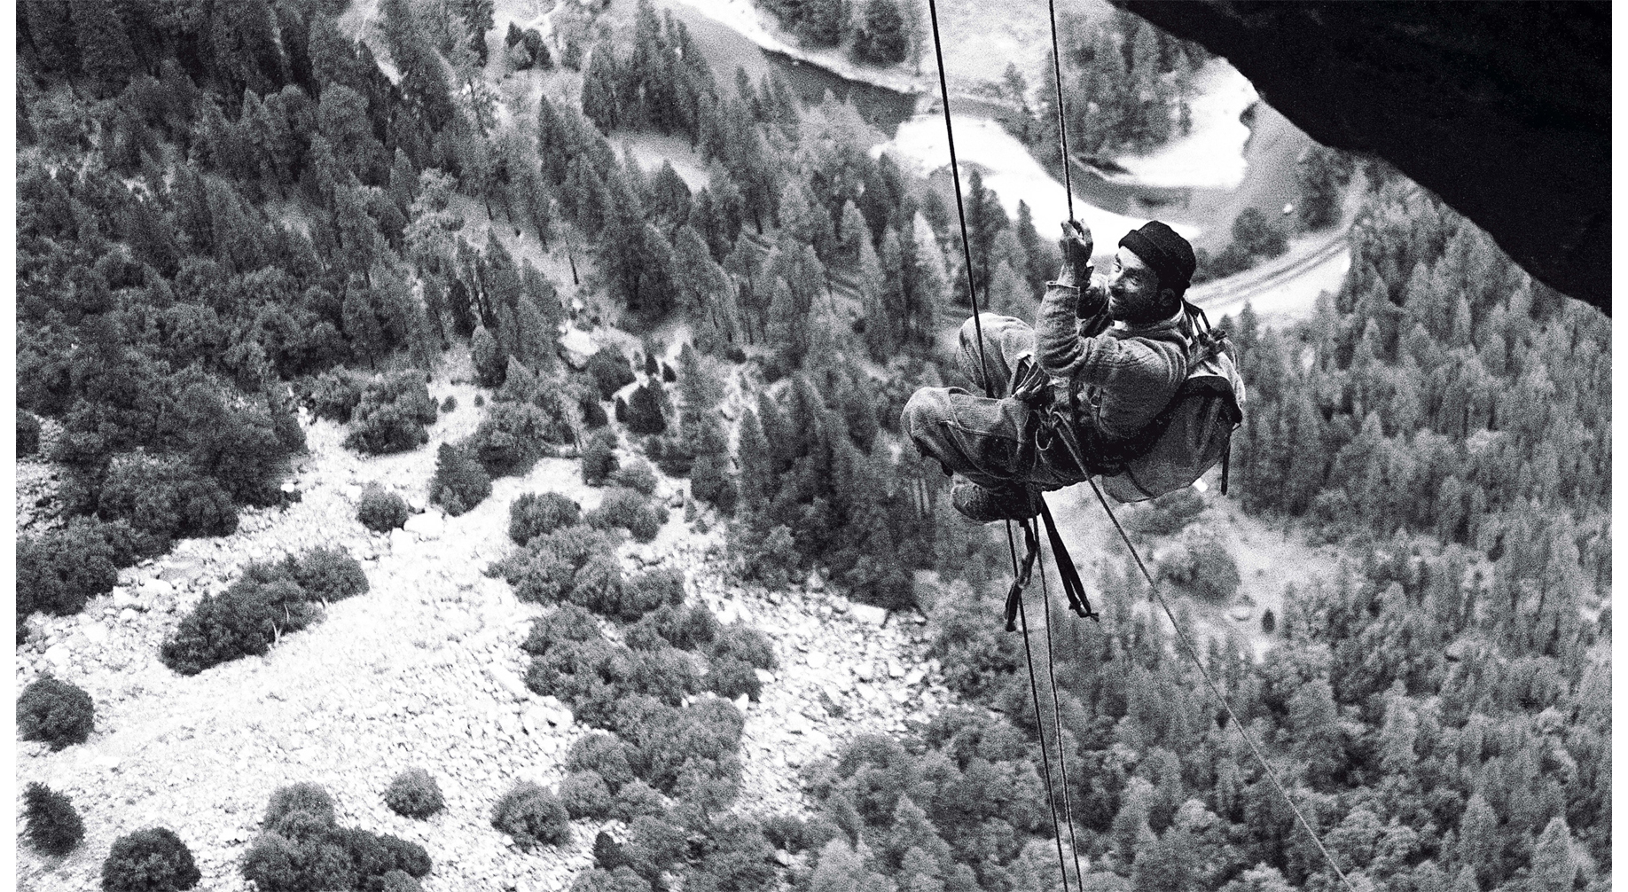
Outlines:
<svg viewBox="0 0 1628 892"><path fill-rule="evenodd" d="M1390 161L1610 314L1608 3L1114 3L1224 55L1314 140Z"/></svg>

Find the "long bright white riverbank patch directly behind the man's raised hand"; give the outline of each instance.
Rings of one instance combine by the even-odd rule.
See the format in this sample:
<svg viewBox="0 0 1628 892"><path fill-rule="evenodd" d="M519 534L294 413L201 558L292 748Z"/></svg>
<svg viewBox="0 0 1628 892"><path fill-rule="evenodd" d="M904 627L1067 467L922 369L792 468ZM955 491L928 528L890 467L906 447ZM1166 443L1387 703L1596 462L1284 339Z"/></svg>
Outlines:
<svg viewBox="0 0 1628 892"><path fill-rule="evenodd" d="M943 114L918 114L899 125L892 142L873 148L873 156L889 153L895 161L913 166L923 176L949 163L949 140L944 135ZM1017 218L1017 202L1026 202L1034 215L1040 238L1055 238L1057 225L1068 220L1068 194L1029 148L1017 142L996 120L987 117L956 117L956 158L962 168L975 166L983 173L983 186L1000 195L1001 207L1013 220ZM1125 216L1088 203L1074 195L1074 215L1091 226L1097 256L1114 254L1118 239L1141 226L1148 218ZM1172 223L1172 230L1193 239L1198 226Z"/></svg>

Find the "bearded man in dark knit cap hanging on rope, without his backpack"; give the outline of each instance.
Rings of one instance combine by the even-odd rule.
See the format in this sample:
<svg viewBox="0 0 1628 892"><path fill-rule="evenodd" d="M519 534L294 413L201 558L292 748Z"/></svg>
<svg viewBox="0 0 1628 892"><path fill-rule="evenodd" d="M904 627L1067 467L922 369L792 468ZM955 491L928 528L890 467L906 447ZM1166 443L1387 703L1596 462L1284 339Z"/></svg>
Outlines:
<svg viewBox="0 0 1628 892"><path fill-rule="evenodd" d="M1187 376L1182 295L1197 265L1187 239L1154 220L1127 233L1096 278L1091 230L1063 223L1061 244L1034 327L991 313L961 327L961 368L990 396L921 387L904 410L917 449L959 475L951 503L975 523L1032 518L1042 492L1105 472ZM1066 433L1092 467L1071 457Z"/></svg>

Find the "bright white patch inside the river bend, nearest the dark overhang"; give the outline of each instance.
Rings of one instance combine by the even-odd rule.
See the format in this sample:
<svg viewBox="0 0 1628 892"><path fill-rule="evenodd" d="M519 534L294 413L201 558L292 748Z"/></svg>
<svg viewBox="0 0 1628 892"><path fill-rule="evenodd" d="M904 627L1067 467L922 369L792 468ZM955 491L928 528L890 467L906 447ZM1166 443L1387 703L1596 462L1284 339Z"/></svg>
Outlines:
<svg viewBox="0 0 1628 892"><path fill-rule="evenodd" d="M1260 101L1255 85L1224 59L1213 59L1193 77L1193 129L1149 155L1125 155L1114 161L1125 174L1110 182L1154 187L1237 189L1249 163L1244 143L1249 127L1239 120L1244 109Z"/></svg>

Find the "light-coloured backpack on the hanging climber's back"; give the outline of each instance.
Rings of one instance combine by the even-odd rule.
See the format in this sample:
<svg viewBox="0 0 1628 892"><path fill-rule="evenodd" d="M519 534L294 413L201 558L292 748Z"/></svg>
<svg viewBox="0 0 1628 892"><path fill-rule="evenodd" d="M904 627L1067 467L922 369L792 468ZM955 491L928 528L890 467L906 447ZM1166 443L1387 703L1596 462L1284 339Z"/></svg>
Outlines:
<svg viewBox="0 0 1628 892"><path fill-rule="evenodd" d="M1203 309L1182 301L1192 343L1187 379L1171 404L1120 451L1102 474L1102 490L1118 501L1144 501L1188 487L1221 462L1226 493L1232 431L1244 423L1244 379L1224 330Z"/></svg>

